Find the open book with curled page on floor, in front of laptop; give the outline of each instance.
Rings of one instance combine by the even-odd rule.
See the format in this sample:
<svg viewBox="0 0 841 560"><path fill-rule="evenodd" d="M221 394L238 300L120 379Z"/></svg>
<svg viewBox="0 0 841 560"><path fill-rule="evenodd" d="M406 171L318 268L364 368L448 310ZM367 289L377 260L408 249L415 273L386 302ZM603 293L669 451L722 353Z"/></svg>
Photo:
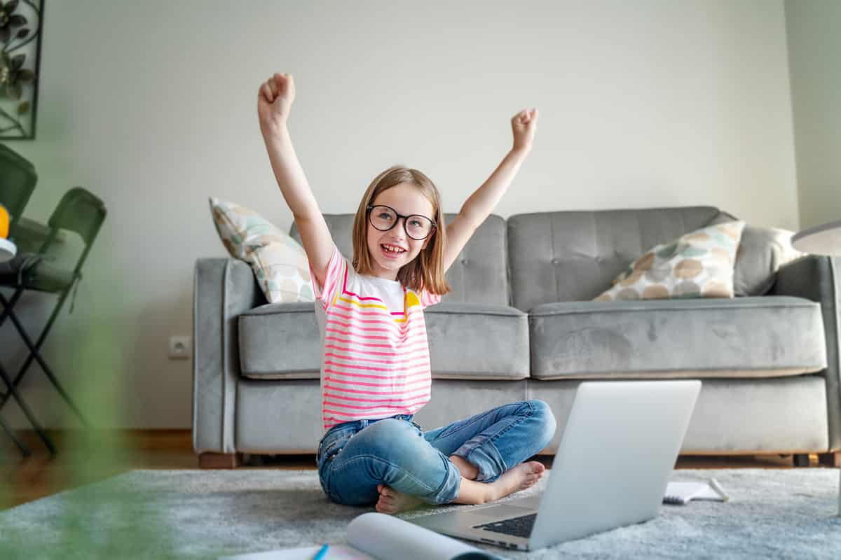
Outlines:
<svg viewBox="0 0 841 560"><path fill-rule="evenodd" d="M220 560L312 560L320 546L283 548ZM501 560L489 552L382 513L363 513L347 526L347 545L330 545L324 560Z"/></svg>

